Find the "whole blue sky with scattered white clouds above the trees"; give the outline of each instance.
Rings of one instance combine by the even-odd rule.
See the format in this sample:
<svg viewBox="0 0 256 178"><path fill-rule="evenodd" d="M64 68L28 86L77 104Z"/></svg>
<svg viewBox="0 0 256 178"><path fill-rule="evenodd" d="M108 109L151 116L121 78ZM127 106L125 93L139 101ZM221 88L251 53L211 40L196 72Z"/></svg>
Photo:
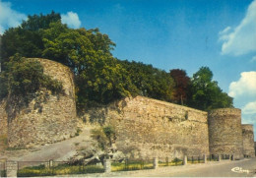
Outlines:
<svg viewBox="0 0 256 178"><path fill-rule="evenodd" d="M256 0L0 0L0 33L52 10L70 28L107 33L119 59L189 76L210 67L256 132Z"/></svg>

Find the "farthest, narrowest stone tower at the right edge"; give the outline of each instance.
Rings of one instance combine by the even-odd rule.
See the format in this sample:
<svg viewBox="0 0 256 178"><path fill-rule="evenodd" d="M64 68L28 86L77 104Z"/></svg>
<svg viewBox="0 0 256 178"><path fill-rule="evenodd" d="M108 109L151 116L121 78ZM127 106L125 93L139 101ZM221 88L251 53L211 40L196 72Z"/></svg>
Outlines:
<svg viewBox="0 0 256 178"><path fill-rule="evenodd" d="M254 135L253 135L253 125L243 124L242 125L242 138L243 138L243 154L245 156L254 157Z"/></svg>

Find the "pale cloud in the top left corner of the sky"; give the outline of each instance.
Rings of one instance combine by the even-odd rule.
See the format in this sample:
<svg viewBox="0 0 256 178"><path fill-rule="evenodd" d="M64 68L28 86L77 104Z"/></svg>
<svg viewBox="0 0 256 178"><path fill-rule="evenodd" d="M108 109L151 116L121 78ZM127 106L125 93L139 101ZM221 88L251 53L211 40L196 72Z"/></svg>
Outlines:
<svg viewBox="0 0 256 178"><path fill-rule="evenodd" d="M22 20L26 20L25 14L19 13L12 9L12 4L9 2L1 2L0 0L0 34L9 28L18 27Z"/></svg>

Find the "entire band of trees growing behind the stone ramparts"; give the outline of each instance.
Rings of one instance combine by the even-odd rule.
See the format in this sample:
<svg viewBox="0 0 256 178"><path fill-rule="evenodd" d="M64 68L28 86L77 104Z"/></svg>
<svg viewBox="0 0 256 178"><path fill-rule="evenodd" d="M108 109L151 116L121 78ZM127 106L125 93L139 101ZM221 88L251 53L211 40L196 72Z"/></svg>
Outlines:
<svg viewBox="0 0 256 178"><path fill-rule="evenodd" d="M232 98L213 81L209 68L202 67L192 78L180 69L167 73L152 65L114 58L114 46L98 29L69 29L54 12L29 16L20 27L6 30L2 36L0 95L3 97L9 89L7 73L16 75L9 64L15 62L12 56L18 53L69 66L75 74L78 111L138 94L202 110L232 107Z"/></svg>

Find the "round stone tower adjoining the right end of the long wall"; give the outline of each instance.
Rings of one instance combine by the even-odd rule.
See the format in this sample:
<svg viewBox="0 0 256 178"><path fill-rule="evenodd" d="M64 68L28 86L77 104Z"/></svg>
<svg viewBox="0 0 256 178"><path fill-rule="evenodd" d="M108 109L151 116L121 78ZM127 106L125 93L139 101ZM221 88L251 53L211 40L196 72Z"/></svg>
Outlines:
<svg viewBox="0 0 256 178"><path fill-rule="evenodd" d="M243 157L241 110L224 108L208 114L209 148L211 154L232 154Z"/></svg>

